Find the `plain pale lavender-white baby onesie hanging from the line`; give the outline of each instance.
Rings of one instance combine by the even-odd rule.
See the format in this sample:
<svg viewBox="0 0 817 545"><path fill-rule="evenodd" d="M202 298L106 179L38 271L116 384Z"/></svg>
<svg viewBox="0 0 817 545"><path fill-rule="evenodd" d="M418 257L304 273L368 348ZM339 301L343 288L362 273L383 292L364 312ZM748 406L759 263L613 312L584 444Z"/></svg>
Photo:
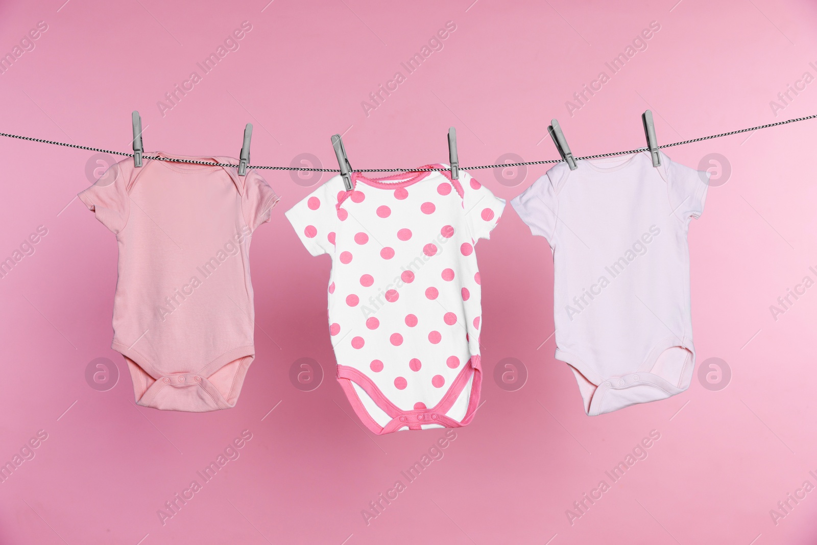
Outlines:
<svg viewBox="0 0 817 545"><path fill-rule="evenodd" d="M558 163L511 201L554 263L556 358L594 416L690 386L690 219L708 172L661 154Z"/></svg>

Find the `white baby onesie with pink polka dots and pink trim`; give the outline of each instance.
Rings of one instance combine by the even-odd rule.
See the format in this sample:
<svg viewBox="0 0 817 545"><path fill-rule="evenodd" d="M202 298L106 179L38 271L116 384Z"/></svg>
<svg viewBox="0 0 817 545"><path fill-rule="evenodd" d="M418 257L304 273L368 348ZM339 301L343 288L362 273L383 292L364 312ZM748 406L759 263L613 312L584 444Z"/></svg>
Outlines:
<svg viewBox="0 0 817 545"><path fill-rule="evenodd" d="M474 244L505 201L463 171L354 172L352 184L335 176L286 212L312 255L332 256L337 380L378 435L465 426L481 381Z"/></svg>

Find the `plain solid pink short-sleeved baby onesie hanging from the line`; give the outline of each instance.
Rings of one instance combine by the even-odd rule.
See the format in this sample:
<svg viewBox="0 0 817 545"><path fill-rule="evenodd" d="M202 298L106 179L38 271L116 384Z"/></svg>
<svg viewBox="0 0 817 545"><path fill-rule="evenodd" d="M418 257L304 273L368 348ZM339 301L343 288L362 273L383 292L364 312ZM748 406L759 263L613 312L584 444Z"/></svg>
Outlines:
<svg viewBox="0 0 817 545"><path fill-rule="evenodd" d="M233 407L255 356L250 239L278 202L273 190L253 170L125 159L79 198L118 241L112 348L127 361L136 403Z"/></svg>

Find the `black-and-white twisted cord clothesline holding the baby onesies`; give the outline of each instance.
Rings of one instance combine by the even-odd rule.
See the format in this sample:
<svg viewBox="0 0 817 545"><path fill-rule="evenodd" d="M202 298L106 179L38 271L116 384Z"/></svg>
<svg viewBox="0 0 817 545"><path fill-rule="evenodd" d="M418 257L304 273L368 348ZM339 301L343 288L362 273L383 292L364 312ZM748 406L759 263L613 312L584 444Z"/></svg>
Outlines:
<svg viewBox="0 0 817 545"><path fill-rule="evenodd" d="M758 125L757 127L749 127L739 129L738 131L730 131L730 132L721 132L721 134L714 134L712 136L701 136L700 138L693 138L692 140L685 140L681 142L673 142L672 144L663 144L659 145L659 149L669 148L673 145L684 145L684 144L691 144L693 142L699 142L704 140L712 140L712 138L721 138L721 136L732 136L734 134L740 134L741 132L751 132L757 131L762 128L769 128L769 127L777 127L778 125L787 125L788 123L797 123L798 121L806 121L806 119L814 119L817 118L817 114L808 115L804 118L794 118L794 119L787 119L786 121L779 121L777 123L767 123L766 125ZM0 132L0 136L7 136L8 138L17 138L19 140L25 141L32 141L32 142L40 142L42 144L51 144L51 145L64 145L65 147L69 148L76 148L78 150L88 150L88 151L98 151L104 154L112 154L112 155L122 155L124 157L133 157L133 154L129 154L122 151L111 151L111 150L100 150L99 148L92 148L86 145L77 145L77 144L67 144L65 142L56 142L50 140L43 140L41 138L32 138L31 136L20 136L16 134L8 134L6 132ZM627 155L627 154L635 154L641 151L646 151L648 148L637 148L636 150L628 150L628 151L614 151L609 154L596 154L596 155L587 155L585 157L576 157L574 159L582 160L582 159L599 159L601 157L613 157L614 155ZM194 161L189 159L175 159L172 157L158 157L156 155L143 155L142 159L152 159L157 161L167 161L170 163L194 163L194 164L202 164L212 167L235 167L234 164L225 164L225 163L209 163L208 161ZM460 167L462 170L479 170L482 168L508 168L508 167L524 167L528 165L537 165L537 164L547 164L547 163L561 163L565 159L547 159L543 161L527 161L525 163L502 163L502 164L493 164L493 165L480 165L475 167ZM266 169L266 170L295 170L295 171L310 171L310 172L341 172L339 168L304 168L304 167L268 167L263 165L248 165L248 168L257 168L257 169ZM352 168L351 172L418 172L418 171L444 171L448 170L448 168Z"/></svg>

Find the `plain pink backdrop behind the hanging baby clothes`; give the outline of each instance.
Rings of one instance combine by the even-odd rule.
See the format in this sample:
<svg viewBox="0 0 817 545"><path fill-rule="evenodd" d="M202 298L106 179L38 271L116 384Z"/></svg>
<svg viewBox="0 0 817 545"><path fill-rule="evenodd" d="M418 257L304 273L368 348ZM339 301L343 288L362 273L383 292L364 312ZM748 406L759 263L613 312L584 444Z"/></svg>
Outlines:
<svg viewBox="0 0 817 545"><path fill-rule="evenodd" d="M509 152L556 158L554 117L583 155L644 145L647 108L661 143L817 113L817 83L776 117L770 107L817 75L814 2L471 1L2 2L0 53L38 21L48 29L0 75L0 131L127 151L138 109L147 150L237 155L252 122L253 163L311 153L337 168L329 136L342 132L354 167L409 168L448 159L451 125L467 166ZM243 20L252 30L239 50L163 116L157 101ZM400 62L449 20L443 49L406 74ZM565 101L653 20L649 47L571 117ZM361 101L398 70L404 83L364 114ZM0 279L0 462L47 433L0 484L0 543L814 543L817 491L776 524L770 510L817 485L817 287L776 321L769 307L817 279L815 134L806 121L666 150L695 168L721 154L731 168L690 228L696 368L725 360L732 376L718 391L696 369L682 395L587 417L553 358L547 243L508 207L477 247L484 405L410 483L400 471L444 431L373 436L334 381L330 263L283 217L314 186L264 172L282 201L252 243L257 359L238 406L159 412L134 404L109 348L116 242L75 199L95 154L0 139L0 259L47 228ZM506 172L504 185L474 174L511 199L546 170ZM304 357L324 371L313 391L289 380ZM118 368L108 391L86 382L96 358ZM529 374L516 391L493 379L504 358ZM240 457L163 524L157 511L243 430ZM605 471L652 430L647 458L613 484ZM395 480L406 489L367 525L361 511ZM571 524L565 511L600 480L611 488Z"/></svg>

